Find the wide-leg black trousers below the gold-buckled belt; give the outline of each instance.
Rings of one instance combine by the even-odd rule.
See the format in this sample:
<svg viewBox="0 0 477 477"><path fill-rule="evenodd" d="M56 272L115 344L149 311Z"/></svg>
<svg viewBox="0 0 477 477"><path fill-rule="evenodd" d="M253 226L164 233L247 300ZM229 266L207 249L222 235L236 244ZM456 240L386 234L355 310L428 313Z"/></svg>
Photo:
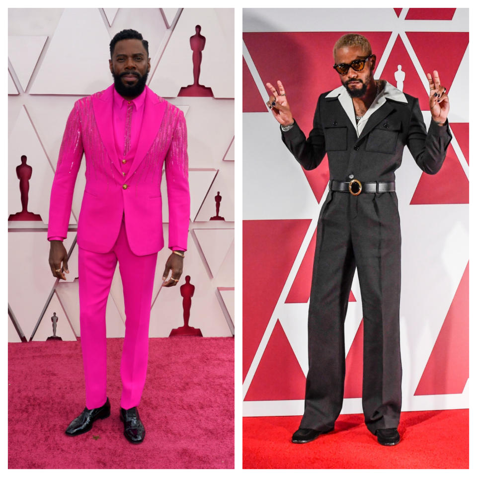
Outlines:
<svg viewBox="0 0 477 477"><path fill-rule="evenodd" d="M363 304L366 426L374 434L377 429L397 427L401 408L400 247L395 192L328 193L318 220L301 428L329 430L341 411L344 319L356 268Z"/></svg>

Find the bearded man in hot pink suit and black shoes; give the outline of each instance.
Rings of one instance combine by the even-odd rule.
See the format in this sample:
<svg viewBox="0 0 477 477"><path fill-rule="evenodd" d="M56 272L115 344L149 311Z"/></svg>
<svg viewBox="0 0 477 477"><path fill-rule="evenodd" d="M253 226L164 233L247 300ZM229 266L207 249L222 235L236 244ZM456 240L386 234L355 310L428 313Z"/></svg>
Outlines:
<svg viewBox="0 0 477 477"><path fill-rule="evenodd" d="M86 407L66 434L91 429L110 415L106 396L106 302L119 262L126 330L121 359L120 418L124 435L142 442L137 406L146 380L149 318L157 253L164 245L160 182L165 166L169 205L168 257L162 286L175 286L187 249L190 196L187 131L182 111L146 86L148 42L135 30L109 45L114 84L76 101L66 125L51 190L50 267L65 279L62 243L84 153L86 186L78 220L79 308ZM62 265L63 264L63 265ZM168 277L171 271L170 278Z"/></svg>

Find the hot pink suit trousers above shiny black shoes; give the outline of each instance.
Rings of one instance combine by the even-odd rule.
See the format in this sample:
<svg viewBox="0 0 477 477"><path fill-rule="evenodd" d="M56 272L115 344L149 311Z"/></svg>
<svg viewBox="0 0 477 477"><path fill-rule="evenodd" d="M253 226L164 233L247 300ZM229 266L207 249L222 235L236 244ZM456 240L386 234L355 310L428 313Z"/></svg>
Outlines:
<svg viewBox="0 0 477 477"><path fill-rule="evenodd" d="M88 409L106 402L106 303L118 262L126 312L120 405L123 409L139 405L148 365L157 256L157 253L139 256L131 251L124 221L109 252L96 253L79 247L79 316Z"/></svg>

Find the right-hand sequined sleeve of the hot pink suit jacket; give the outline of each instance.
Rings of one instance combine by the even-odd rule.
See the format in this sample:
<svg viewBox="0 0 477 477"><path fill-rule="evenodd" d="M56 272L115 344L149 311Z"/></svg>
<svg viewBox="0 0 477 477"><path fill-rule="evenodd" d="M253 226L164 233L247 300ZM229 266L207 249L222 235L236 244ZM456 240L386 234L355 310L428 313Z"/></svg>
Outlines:
<svg viewBox="0 0 477 477"><path fill-rule="evenodd" d="M187 250L190 194L187 157L187 127L179 110L172 140L165 158L167 203L169 205L169 248Z"/></svg>

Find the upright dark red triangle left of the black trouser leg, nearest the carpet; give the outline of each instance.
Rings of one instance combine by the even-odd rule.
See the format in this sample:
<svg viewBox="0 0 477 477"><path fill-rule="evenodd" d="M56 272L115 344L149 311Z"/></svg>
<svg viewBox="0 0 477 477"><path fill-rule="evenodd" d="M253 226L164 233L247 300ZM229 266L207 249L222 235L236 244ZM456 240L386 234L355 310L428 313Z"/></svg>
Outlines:
<svg viewBox="0 0 477 477"><path fill-rule="evenodd" d="M304 399L306 378L277 320L245 401Z"/></svg>

